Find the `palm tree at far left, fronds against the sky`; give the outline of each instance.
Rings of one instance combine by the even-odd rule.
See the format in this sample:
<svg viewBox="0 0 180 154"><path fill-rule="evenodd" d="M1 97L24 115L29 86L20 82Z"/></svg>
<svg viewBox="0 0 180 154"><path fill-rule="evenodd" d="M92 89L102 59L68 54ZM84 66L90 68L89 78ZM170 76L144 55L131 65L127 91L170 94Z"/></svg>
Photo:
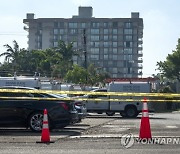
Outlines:
<svg viewBox="0 0 180 154"><path fill-rule="evenodd" d="M20 50L19 50L19 45L15 40L13 41L13 44L14 44L13 48L10 45L5 44L4 47L6 47L7 50L6 52L0 54L0 57L5 56L5 61L8 63L11 62L13 64L14 71L16 71Z"/></svg>

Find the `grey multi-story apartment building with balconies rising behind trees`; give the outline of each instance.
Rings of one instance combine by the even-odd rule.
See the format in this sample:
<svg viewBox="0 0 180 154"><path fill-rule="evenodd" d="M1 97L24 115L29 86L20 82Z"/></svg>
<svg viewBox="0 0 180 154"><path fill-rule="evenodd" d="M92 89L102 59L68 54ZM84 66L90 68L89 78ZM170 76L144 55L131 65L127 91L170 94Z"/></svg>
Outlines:
<svg viewBox="0 0 180 154"><path fill-rule="evenodd" d="M142 75L143 19L138 12L131 18L95 18L92 7L79 7L72 18L34 18L27 14L29 50L57 47L58 41L74 42L79 52L74 63L93 63L113 78Z"/></svg>

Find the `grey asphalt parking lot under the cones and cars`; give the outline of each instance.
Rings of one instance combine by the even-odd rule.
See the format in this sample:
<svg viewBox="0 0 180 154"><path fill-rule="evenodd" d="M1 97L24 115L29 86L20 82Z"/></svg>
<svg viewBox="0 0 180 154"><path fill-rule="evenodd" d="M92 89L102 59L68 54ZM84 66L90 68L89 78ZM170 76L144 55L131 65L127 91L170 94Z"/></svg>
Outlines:
<svg viewBox="0 0 180 154"><path fill-rule="evenodd" d="M150 115L152 137L180 138L180 113ZM123 119L116 114L91 114L81 123L50 132L52 144L38 144L41 133L26 129L0 129L0 153L179 153L179 144L135 142L128 149L121 143L124 134L139 134L141 117ZM179 142L178 142L179 143Z"/></svg>

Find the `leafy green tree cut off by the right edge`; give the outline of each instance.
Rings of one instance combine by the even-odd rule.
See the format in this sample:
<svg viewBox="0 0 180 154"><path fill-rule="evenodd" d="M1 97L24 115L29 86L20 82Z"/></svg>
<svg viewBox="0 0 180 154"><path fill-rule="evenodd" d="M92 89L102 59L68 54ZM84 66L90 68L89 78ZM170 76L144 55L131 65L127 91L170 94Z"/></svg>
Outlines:
<svg viewBox="0 0 180 154"><path fill-rule="evenodd" d="M176 50L168 54L164 62L157 62L158 70L169 79L177 79L180 82L180 39Z"/></svg>

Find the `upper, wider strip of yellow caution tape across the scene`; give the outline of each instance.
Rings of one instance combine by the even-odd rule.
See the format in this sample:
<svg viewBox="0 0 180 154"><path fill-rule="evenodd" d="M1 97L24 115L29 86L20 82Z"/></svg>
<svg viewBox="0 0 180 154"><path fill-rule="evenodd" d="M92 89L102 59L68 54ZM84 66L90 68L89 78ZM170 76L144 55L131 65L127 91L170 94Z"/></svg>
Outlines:
<svg viewBox="0 0 180 154"><path fill-rule="evenodd" d="M92 92L92 91L60 91L60 90L28 90L28 89L0 89L1 92L14 93L48 93L48 94L68 94L68 95L104 95L104 96L144 96L144 97L180 97L175 93L137 93L137 92Z"/></svg>

